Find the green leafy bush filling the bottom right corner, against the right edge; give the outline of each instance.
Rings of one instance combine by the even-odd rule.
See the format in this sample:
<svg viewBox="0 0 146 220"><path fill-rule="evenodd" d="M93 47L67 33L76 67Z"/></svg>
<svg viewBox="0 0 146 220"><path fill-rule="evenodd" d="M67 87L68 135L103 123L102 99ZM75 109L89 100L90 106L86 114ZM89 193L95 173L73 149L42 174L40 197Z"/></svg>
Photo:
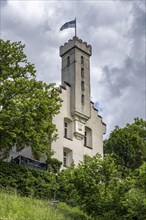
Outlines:
<svg viewBox="0 0 146 220"><path fill-rule="evenodd" d="M125 182L130 187L121 201L124 219L146 219L146 162L134 170Z"/></svg>

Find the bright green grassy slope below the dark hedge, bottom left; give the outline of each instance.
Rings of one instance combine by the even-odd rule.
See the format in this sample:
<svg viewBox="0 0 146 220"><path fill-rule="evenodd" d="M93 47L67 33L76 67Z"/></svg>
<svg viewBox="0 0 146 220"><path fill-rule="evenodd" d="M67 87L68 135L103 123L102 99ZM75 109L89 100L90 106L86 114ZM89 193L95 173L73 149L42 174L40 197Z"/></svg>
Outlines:
<svg viewBox="0 0 146 220"><path fill-rule="evenodd" d="M47 201L19 197L15 191L0 191L0 220L92 220L78 208L59 203L57 208Z"/></svg>

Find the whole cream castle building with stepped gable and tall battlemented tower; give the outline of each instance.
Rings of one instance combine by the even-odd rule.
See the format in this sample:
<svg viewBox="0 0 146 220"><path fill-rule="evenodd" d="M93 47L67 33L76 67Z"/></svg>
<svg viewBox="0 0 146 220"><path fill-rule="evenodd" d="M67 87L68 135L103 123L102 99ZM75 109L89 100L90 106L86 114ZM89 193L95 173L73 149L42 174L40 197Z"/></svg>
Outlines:
<svg viewBox="0 0 146 220"><path fill-rule="evenodd" d="M64 167L72 161L77 165L85 155L103 155L106 125L90 100L91 55L91 45L76 36L60 47L63 103L60 114L53 119L59 138L52 143L52 149Z"/></svg>

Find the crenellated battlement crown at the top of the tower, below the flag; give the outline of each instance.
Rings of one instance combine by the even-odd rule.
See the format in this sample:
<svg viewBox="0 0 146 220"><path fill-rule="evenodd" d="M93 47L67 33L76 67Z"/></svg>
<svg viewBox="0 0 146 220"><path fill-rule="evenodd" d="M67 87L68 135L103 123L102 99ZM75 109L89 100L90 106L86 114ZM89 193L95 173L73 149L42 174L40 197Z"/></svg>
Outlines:
<svg viewBox="0 0 146 220"><path fill-rule="evenodd" d="M73 39L70 39L67 43L60 46L60 56L62 57L65 53L67 53L74 47L84 51L84 53L88 54L89 56L92 55L91 45L87 44L86 42L75 36L73 37Z"/></svg>

